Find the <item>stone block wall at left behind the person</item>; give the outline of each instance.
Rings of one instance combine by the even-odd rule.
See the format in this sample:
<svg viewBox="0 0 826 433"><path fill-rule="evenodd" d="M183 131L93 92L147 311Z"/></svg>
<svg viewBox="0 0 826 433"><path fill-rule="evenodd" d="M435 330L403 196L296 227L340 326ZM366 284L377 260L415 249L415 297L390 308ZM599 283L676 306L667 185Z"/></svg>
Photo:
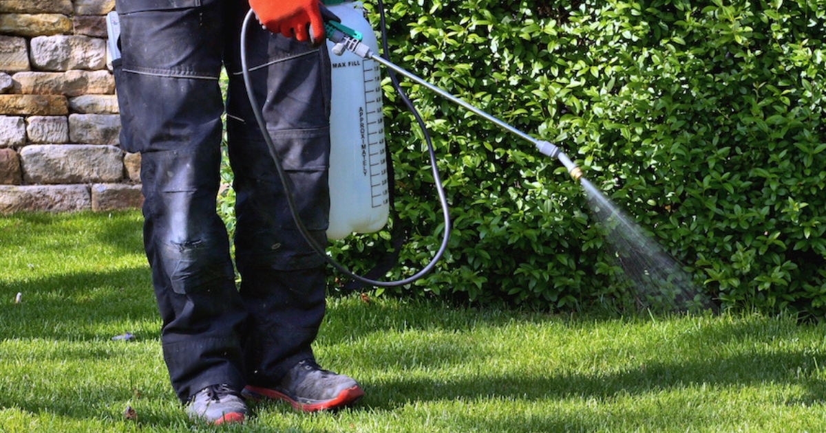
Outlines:
<svg viewBox="0 0 826 433"><path fill-rule="evenodd" d="M0 214L140 206L120 148L114 0L0 0Z"/></svg>

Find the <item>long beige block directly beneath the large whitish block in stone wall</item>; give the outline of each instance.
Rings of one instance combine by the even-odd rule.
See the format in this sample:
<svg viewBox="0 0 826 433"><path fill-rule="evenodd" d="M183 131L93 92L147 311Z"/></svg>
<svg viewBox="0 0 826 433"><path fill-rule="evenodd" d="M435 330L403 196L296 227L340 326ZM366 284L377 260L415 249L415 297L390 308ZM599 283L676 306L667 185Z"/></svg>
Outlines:
<svg viewBox="0 0 826 433"><path fill-rule="evenodd" d="M112 73L71 70L64 73L21 72L12 75L13 93L25 95L108 95L115 92Z"/></svg>

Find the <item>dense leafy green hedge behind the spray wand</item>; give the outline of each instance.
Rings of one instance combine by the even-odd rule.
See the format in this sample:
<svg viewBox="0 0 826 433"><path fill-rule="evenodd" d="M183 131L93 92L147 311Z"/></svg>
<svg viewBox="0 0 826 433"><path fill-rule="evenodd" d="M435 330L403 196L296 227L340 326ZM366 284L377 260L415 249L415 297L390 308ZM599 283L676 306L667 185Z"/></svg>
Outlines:
<svg viewBox="0 0 826 433"><path fill-rule="evenodd" d="M706 294L826 311L826 3L386 3L396 64L560 145ZM384 87L396 205L410 229L388 275L399 278L429 260L442 228L420 134ZM418 85L406 91L434 136L453 236L437 271L395 291L629 304L599 271L609 261L599 228L558 162ZM364 271L386 248L382 234L330 251Z"/></svg>

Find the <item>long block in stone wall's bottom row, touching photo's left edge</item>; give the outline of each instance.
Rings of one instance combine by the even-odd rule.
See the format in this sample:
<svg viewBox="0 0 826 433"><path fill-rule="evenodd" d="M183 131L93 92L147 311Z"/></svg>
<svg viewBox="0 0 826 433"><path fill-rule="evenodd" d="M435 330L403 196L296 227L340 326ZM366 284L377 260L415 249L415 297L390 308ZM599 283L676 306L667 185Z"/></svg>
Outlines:
<svg viewBox="0 0 826 433"><path fill-rule="evenodd" d="M0 186L0 214L15 212L71 212L92 208L85 185Z"/></svg>

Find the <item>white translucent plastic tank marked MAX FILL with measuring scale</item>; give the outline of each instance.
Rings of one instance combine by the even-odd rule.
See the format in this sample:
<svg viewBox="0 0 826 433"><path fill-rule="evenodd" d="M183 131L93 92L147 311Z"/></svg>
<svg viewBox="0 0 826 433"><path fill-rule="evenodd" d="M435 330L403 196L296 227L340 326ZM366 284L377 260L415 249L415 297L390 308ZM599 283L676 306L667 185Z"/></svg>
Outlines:
<svg viewBox="0 0 826 433"><path fill-rule="evenodd" d="M338 4L333 4L338 3ZM363 35L378 53L378 42L361 2L326 0L341 23ZM390 194L385 152L382 78L379 64L344 52L336 55L327 41L332 64L330 112L330 227L327 238L373 233L387 224Z"/></svg>

